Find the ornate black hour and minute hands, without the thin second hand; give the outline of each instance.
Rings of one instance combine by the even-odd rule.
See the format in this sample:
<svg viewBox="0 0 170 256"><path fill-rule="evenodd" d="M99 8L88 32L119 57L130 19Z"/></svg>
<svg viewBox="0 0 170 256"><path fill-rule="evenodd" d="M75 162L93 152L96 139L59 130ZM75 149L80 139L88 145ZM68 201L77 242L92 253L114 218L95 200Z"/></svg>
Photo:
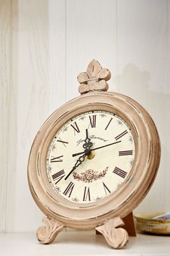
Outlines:
<svg viewBox="0 0 170 256"><path fill-rule="evenodd" d="M72 174L72 172L73 172L78 166L80 166L81 163L84 162L84 160L85 160L85 158L86 158L86 155L89 155L89 154L91 153L91 147L92 147L93 143L91 142L91 139L90 139L89 136L88 136L88 129L86 129L86 140L84 140L84 142L85 142L84 145L83 145L83 147L84 147L84 152L83 152L84 155L81 155L81 156L77 159L75 165L73 166L72 170L67 174L65 180L68 179L68 177Z"/></svg>

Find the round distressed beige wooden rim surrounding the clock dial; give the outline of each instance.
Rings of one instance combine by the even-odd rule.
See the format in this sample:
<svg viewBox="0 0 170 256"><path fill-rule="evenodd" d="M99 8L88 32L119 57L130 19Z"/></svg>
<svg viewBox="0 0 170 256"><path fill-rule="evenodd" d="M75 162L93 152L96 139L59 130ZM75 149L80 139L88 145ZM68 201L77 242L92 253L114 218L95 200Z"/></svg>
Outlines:
<svg viewBox="0 0 170 256"><path fill-rule="evenodd" d="M46 155L55 133L73 116L104 110L126 121L135 140L135 161L120 189L99 202L69 202L54 191L46 174ZM32 197L46 216L75 229L92 229L106 219L124 218L143 200L158 170L161 147L156 126L136 101L120 93L89 92L58 108L37 133L30 151L28 182Z"/></svg>

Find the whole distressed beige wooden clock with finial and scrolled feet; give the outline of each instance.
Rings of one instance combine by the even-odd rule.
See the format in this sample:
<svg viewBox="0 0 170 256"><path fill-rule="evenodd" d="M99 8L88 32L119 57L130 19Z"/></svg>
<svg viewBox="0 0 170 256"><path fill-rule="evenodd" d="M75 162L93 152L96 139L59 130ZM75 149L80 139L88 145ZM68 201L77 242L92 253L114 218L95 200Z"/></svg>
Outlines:
<svg viewBox="0 0 170 256"><path fill-rule="evenodd" d="M132 98L107 92L109 78L108 69L91 61L78 76L81 95L58 108L33 142L28 182L45 214L45 226L37 229L43 244L70 227L96 229L111 247L125 247L122 219L156 176L161 155L156 126Z"/></svg>

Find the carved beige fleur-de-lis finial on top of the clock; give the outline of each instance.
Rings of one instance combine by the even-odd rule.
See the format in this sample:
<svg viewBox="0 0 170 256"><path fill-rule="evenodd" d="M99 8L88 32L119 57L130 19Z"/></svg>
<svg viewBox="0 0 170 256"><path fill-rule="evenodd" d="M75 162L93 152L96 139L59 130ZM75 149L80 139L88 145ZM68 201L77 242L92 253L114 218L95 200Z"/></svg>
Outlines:
<svg viewBox="0 0 170 256"><path fill-rule="evenodd" d="M89 63L86 72L82 72L77 77L79 81L79 93L84 94L92 90L108 90L107 80L111 77L109 69L103 69L95 59Z"/></svg>

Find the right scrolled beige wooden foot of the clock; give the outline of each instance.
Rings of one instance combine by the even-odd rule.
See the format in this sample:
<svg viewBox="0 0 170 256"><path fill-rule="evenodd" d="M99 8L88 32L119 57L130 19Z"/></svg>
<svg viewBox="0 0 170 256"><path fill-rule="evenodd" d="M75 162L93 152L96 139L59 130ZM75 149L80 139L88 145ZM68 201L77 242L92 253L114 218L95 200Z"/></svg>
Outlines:
<svg viewBox="0 0 170 256"><path fill-rule="evenodd" d="M125 247L129 239L128 232L125 229L117 228L123 225L122 219L116 217L105 221L102 226L97 226L96 230L103 234L109 246L120 249Z"/></svg>

